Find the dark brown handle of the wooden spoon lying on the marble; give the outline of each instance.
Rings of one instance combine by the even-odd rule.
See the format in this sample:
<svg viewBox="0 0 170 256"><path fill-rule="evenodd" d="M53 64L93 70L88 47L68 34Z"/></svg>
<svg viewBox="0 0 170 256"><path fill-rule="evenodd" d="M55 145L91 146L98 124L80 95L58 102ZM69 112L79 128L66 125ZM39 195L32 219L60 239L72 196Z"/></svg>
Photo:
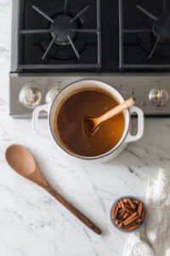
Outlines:
<svg viewBox="0 0 170 256"><path fill-rule="evenodd" d="M81 212L77 210L77 208L73 207L70 202L66 201L61 195L59 195L54 189L51 187L45 188L48 193L54 196L54 198L59 201L65 208L67 208L72 214L74 214L77 218L79 218L83 224L87 225L89 229L93 230L97 234L101 234L101 230L86 216L84 216Z"/></svg>

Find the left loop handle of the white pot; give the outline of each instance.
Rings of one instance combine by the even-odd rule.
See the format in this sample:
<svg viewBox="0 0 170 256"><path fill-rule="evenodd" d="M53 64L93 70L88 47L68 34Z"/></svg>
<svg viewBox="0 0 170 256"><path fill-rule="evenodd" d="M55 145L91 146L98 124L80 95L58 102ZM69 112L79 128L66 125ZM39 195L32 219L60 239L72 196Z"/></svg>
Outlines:
<svg viewBox="0 0 170 256"><path fill-rule="evenodd" d="M47 113L49 113L49 110L50 110L50 107L51 107L51 104L48 103L48 104L44 104L42 106L39 106L37 108L34 109L33 113L32 113L32 130L38 135L38 136L41 136L41 137L48 137L48 132L42 132L41 130L39 130L38 128L38 123L39 123L39 113L42 112L42 111L45 111Z"/></svg>

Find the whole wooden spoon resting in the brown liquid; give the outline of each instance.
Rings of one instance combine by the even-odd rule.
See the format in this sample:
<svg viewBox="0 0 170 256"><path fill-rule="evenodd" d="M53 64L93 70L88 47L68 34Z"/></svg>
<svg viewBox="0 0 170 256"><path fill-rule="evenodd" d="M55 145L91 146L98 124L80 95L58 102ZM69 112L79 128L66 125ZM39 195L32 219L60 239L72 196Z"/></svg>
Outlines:
<svg viewBox="0 0 170 256"><path fill-rule="evenodd" d="M83 128L85 134L88 136L94 135L94 133L98 130L99 125L105 122L111 117L115 116L117 113L121 113L124 109L132 107L135 104L135 99L130 98L125 102L120 103L116 108L112 108L110 111L104 113L103 115L99 116L99 118L92 118L86 117L83 119Z"/></svg>

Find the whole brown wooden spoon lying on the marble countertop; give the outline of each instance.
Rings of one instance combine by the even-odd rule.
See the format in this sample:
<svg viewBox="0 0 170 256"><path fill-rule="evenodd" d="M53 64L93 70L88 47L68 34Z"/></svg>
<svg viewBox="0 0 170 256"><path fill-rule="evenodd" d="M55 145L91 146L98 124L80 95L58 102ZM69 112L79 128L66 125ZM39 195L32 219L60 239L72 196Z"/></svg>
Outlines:
<svg viewBox="0 0 170 256"><path fill-rule="evenodd" d="M53 195L56 200L79 218L83 224L86 224L89 229L93 230L97 234L101 234L101 230L99 230L95 224L79 212L77 208L73 207L48 184L46 179L42 176L42 172L39 170L36 160L30 151L19 144L13 144L7 148L5 157L8 165L11 166L15 172L18 172L21 176L26 177L31 180L31 182L37 183L37 185L47 190L49 194Z"/></svg>

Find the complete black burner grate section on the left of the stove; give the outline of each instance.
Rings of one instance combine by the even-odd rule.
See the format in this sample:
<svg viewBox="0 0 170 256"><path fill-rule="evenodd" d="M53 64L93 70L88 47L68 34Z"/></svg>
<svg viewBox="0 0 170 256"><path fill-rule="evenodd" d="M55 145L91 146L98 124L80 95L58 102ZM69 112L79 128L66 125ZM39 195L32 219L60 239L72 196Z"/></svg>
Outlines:
<svg viewBox="0 0 170 256"><path fill-rule="evenodd" d="M79 0L55 0L50 11L47 1L34 2L20 0L18 72L37 69L99 71L100 0L87 1L85 6ZM47 10L44 8L46 5ZM30 14L36 25L29 20Z"/></svg>

